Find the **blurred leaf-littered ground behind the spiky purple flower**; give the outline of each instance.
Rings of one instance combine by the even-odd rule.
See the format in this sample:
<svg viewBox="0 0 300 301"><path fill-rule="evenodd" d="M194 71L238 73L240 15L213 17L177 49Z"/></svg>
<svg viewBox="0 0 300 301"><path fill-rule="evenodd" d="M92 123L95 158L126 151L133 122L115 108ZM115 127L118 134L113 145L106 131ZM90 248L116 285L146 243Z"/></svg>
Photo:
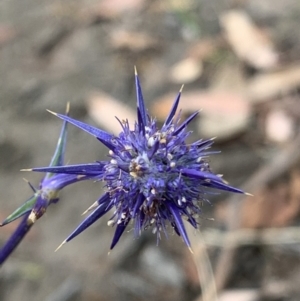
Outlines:
<svg viewBox="0 0 300 301"><path fill-rule="evenodd" d="M211 301L209 263L221 301L299 300L299 18L298 0L2 1L1 219L30 196L22 178L40 178L19 170L53 153L61 122L46 109L70 101L73 117L117 131L113 116L135 105L134 65L159 120L185 84L183 114L202 109L192 138L217 136L213 169L254 197L204 206L191 233L200 285L177 236L156 247L151 233L128 233L108 256L105 218L54 253L101 194L69 187L2 267L0 300ZM105 154L69 127L68 162ZM1 244L15 226L0 229Z"/></svg>

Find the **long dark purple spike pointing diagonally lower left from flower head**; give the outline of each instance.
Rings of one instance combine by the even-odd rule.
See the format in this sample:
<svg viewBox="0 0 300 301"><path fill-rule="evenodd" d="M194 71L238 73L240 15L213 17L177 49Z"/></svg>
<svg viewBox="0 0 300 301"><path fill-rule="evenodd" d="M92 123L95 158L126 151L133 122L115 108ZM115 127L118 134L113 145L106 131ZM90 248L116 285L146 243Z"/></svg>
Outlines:
<svg viewBox="0 0 300 301"><path fill-rule="evenodd" d="M99 203L101 202L99 207L96 208L88 217L86 217L80 223L80 225L65 239L64 242L68 242L73 238L75 238L77 235L79 235L81 232L83 232L85 229L91 226L94 222L96 222L105 213L107 213L112 207L112 205L108 206L108 201L109 201L109 194L106 193L99 200Z"/></svg>

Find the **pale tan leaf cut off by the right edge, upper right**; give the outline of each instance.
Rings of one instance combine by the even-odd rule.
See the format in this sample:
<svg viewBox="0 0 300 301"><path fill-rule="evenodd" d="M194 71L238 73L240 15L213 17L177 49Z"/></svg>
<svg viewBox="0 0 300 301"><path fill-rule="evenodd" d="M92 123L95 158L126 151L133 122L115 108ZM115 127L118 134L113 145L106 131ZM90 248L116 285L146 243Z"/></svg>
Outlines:
<svg viewBox="0 0 300 301"><path fill-rule="evenodd" d="M291 92L297 87L300 87L300 65L254 77L246 93L249 100L258 103Z"/></svg>

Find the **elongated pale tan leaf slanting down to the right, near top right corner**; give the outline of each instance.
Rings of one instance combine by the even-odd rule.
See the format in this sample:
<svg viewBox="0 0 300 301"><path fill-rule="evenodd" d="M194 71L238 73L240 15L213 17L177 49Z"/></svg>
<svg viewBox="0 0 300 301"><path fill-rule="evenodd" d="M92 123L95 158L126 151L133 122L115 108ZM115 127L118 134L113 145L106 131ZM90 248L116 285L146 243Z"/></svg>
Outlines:
<svg viewBox="0 0 300 301"><path fill-rule="evenodd" d="M240 59L258 69L270 69L277 65L278 54L271 40L245 12L227 11L221 15L220 23L229 44Z"/></svg>

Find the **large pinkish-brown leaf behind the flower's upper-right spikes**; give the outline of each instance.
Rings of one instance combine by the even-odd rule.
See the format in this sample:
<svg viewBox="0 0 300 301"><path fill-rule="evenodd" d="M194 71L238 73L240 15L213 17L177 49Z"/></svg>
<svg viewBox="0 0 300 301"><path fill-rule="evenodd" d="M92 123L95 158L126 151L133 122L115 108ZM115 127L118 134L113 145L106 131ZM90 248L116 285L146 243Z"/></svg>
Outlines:
<svg viewBox="0 0 300 301"><path fill-rule="evenodd" d="M175 98L169 93L154 102L151 111L159 120L167 116ZM238 93L226 91L189 91L183 93L179 108L183 114L201 109L198 128L204 138L227 139L247 127L251 107Z"/></svg>

